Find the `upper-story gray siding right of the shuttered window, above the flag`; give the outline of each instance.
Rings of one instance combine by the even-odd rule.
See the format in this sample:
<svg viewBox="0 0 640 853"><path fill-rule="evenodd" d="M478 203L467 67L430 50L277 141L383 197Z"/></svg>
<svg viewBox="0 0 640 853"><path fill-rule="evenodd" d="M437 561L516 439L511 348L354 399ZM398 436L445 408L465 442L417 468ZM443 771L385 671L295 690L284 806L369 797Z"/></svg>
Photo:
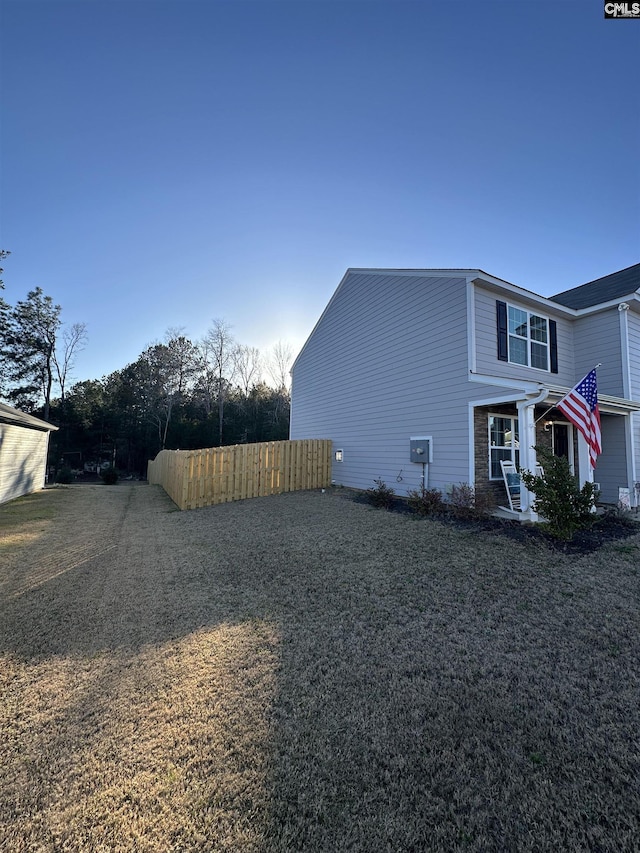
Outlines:
<svg viewBox="0 0 640 853"><path fill-rule="evenodd" d="M598 392L624 397L622 374L622 342L620 316L617 308L589 314L575 321L574 346L576 358L575 381L582 379L596 364ZM573 383L570 383L573 384Z"/></svg>

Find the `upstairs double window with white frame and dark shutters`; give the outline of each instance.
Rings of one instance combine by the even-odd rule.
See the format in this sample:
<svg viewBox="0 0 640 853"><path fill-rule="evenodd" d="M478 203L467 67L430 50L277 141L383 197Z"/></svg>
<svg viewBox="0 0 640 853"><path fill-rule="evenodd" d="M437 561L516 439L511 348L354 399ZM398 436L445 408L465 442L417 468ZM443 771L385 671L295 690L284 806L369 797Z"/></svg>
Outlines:
<svg viewBox="0 0 640 853"><path fill-rule="evenodd" d="M558 372L557 331L554 320L532 314L506 302L496 303L498 358L511 364Z"/></svg>

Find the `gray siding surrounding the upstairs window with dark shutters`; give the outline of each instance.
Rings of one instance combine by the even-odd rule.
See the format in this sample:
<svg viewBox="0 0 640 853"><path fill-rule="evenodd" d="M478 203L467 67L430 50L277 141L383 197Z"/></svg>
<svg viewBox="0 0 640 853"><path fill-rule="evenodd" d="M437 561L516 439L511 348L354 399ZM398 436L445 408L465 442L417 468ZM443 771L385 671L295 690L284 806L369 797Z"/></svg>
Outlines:
<svg viewBox="0 0 640 853"><path fill-rule="evenodd" d="M496 326L496 300L507 302L516 308L522 308L555 320L558 332L558 373L547 370L537 370L510 364L498 359L498 340ZM504 379L526 380L528 382L549 382L553 385L573 385L575 370L573 363L573 326L566 317L558 316L535 302L527 303L525 299L511 297L508 294L498 294L496 291L475 286L475 330L476 330L476 371L490 376L500 376Z"/></svg>

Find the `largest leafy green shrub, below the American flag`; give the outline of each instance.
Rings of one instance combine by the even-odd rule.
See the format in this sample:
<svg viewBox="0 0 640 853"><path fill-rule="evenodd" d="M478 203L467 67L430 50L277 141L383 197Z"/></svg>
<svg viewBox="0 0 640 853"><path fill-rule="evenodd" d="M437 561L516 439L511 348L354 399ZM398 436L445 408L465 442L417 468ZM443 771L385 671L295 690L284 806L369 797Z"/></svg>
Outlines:
<svg viewBox="0 0 640 853"><path fill-rule="evenodd" d="M536 447L544 476L521 471L522 482L536 496L533 508L546 520L546 528L556 539L569 540L576 530L591 527L597 492L593 483L582 488L571 473L569 462L554 456L544 447Z"/></svg>

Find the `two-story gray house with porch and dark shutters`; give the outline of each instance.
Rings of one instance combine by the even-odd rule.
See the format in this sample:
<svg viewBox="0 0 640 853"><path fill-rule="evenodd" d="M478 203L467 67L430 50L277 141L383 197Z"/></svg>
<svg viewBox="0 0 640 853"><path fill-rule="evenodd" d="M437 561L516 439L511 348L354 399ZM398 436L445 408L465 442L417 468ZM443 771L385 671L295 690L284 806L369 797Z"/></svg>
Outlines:
<svg viewBox="0 0 640 853"><path fill-rule="evenodd" d="M598 363L594 476L553 406ZM501 505L500 460L533 471L544 445L597 481L602 501L624 487L634 502L640 264L550 299L482 270L350 269L294 362L291 395L291 438L332 439L337 484L381 478L406 494L424 477ZM523 490L521 518L536 518L531 502Z"/></svg>

